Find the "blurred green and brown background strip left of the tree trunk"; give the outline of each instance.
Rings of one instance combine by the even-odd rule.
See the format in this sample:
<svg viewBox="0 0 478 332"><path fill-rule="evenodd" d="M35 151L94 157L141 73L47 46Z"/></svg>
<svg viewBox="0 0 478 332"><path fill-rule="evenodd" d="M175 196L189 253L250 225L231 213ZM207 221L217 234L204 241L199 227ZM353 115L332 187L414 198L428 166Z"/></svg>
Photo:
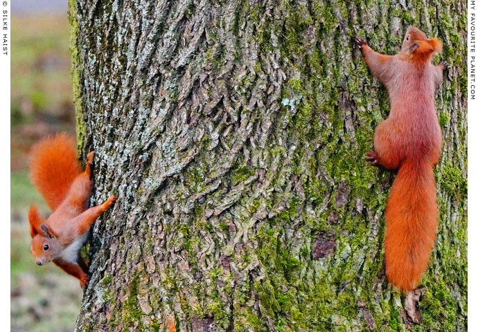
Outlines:
<svg viewBox="0 0 478 332"><path fill-rule="evenodd" d="M28 151L42 136L75 131L67 0L12 2L10 137L11 331L74 329L82 290L53 264L30 254L28 208L51 212L28 179Z"/></svg>

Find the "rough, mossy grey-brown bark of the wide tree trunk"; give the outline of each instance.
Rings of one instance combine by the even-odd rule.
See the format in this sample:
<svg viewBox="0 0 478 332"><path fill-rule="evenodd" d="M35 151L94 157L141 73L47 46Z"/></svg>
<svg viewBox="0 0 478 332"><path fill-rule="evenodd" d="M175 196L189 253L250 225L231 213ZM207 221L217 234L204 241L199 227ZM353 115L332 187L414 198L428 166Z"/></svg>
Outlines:
<svg viewBox="0 0 478 332"><path fill-rule="evenodd" d="M466 1L71 0L78 145L96 151L77 331L465 331ZM353 37L443 40L440 226L421 288L384 277L387 117ZM439 59L436 59L438 62Z"/></svg>

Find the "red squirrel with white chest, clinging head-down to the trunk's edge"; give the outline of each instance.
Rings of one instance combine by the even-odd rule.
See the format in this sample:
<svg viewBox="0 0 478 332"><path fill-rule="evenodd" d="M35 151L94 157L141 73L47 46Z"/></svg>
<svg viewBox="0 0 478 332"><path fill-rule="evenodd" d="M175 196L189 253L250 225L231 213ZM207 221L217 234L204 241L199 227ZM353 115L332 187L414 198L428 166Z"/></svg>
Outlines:
<svg viewBox="0 0 478 332"><path fill-rule="evenodd" d="M88 271L79 255L80 248L87 240L90 226L118 199L110 196L105 203L88 208L93 190L93 156L94 152L90 152L82 172L75 141L66 133L44 138L30 154L31 181L53 211L45 220L35 205L30 206L30 250L37 265L53 261L80 279L82 288L88 284Z"/></svg>

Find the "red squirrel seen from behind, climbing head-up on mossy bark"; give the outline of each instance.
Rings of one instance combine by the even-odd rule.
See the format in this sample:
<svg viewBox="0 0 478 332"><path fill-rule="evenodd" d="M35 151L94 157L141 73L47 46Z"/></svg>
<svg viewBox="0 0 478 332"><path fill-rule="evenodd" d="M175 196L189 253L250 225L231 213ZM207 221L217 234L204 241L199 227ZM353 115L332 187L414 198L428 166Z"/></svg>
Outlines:
<svg viewBox="0 0 478 332"><path fill-rule="evenodd" d="M441 129L434 93L447 63L432 64L441 42L413 26L393 56L373 51L364 39L355 42L389 93L389 118L375 129L366 160L398 171L385 208L385 273L399 291L411 291L427 269L438 229L433 168L440 158Z"/></svg>

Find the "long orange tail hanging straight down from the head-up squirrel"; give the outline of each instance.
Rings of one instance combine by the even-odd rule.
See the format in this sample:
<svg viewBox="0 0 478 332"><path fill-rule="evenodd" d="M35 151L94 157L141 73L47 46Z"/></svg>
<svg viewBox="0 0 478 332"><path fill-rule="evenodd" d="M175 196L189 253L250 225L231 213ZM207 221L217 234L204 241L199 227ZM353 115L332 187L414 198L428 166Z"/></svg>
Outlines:
<svg viewBox="0 0 478 332"><path fill-rule="evenodd" d="M411 291L427 269L438 228L431 163L401 165L385 208L385 270L400 291Z"/></svg>

